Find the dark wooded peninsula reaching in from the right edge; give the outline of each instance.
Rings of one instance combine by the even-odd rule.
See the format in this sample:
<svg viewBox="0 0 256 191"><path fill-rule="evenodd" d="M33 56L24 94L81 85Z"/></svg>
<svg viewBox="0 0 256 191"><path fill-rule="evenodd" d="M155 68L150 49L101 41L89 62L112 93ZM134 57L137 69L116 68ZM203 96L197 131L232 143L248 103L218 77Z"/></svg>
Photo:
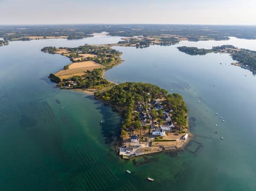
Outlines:
<svg viewBox="0 0 256 191"><path fill-rule="evenodd" d="M256 51L237 48L233 45L215 46L212 47L212 49L181 46L178 47L178 49L179 51L189 55L205 55L207 53L226 53L229 54L233 60L237 61L237 63L231 64L250 70L252 71L253 74L256 73Z"/></svg>

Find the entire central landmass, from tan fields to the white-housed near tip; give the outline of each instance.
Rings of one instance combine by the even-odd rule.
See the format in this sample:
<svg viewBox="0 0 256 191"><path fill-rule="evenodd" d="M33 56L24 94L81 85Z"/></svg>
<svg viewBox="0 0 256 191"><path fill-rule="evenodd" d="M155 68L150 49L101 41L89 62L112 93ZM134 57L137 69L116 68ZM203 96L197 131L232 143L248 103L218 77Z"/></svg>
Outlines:
<svg viewBox="0 0 256 191"><path fill-rule="evenodd" d="M130 157L177 150L188 136L188 109L179 94L142 82L115 84L104 72L122 62L122 53L108 46L44 47L69 57L71 64L49 78L63 89L82 89L122 114L119 155Z"/></svg>

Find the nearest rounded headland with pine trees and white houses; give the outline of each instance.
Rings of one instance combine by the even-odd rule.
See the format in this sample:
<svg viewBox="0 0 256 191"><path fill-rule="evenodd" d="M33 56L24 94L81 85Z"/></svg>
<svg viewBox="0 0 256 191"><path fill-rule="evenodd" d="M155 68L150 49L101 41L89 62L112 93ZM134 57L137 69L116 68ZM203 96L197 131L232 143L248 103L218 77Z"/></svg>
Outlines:
<svg viewBox="0 0 256 191"><path fill-rule="evenodd" d="M177 150L188 138L188 109L179 94L142 82L125 82L95 98L122 112L119 155L130 157Z"/></svg>

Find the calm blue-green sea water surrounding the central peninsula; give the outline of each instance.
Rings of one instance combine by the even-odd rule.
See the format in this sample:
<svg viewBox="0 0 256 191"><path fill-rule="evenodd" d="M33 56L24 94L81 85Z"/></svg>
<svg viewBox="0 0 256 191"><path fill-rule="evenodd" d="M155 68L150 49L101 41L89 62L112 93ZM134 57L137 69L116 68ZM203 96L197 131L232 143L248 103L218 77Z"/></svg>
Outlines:
<svg viewBox="0 0 256 191"><path fill-rule="evenodd" d="M137 165L113 151L121 121L116 112L91 96L54 88L47 79L70 61L42 53L42 47L119 39L14 41L0 48L1 190L254 190L255 77L230 65L229 55L190 56L175 48L208 48L215 41L115 47L125 61L106 78L151 82L182 94L195 135L185 151L147 156L147 162L138 157ZM223 44L256 49L255 40L232 38Z"/></svg>

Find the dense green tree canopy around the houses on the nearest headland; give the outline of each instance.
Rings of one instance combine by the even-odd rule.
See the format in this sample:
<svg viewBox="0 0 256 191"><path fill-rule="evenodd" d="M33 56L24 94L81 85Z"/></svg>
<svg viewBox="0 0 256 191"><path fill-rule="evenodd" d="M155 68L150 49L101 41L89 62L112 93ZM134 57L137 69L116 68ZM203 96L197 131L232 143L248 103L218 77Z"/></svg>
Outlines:
<svg viewBox="0 0 256 191"><path fill-rule="evenodd" d="M168 94L165 89L142 82L125 82L114 86L106 92L94 93L94 96L105 103L113 105L117 110L122 111L123 124L121 137L127 134L131 128L142 128L140 112L148 115L150 119L161 124L163 112L170 112L171 118L177 130L187 128L188 109L179 94ZM153 101L161 102L161 109L156 110ZM138 109L140 108L140 109ZM138 110L141 110L138 112Z"/></svg>

